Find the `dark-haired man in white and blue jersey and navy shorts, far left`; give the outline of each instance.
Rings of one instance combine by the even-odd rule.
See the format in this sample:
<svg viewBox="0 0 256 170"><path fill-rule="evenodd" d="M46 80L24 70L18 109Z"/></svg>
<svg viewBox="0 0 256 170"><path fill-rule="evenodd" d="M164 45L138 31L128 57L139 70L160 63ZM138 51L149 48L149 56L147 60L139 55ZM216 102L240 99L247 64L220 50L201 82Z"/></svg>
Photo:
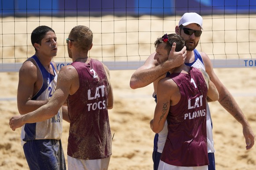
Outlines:
<svg viewBox="0 0 256 170"><path fill-rule="evenodd" d="M17 105L25 115L48 103L57 85L57 67L52 58L57 55L57 37L53 29L39 26L31 34L35 55L19 70ZM63 118L69 121L66 107ZM62 109L54 117L22 126L21 141L29 169L65 170L61 144Z"/></svg>

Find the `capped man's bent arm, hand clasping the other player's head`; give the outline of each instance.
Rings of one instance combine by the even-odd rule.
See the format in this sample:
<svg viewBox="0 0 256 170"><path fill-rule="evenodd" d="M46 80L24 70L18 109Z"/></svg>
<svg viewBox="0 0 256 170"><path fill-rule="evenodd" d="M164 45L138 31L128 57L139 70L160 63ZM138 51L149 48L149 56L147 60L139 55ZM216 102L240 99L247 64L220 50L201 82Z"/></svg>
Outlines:
<svg viewBox="0 0 256 170"><path fill-rule="evenodd" d="M176 52L176 43L173 43L172 50L169 54L169 59L158 65L154 60L155 53L151 54L143 66L139 67L133 74L130 80L130 87L137 89L145 87L155 81L157 78L170 71L172 68L178 67L184 63L186 58L186 47L181 51Z"/></svg>

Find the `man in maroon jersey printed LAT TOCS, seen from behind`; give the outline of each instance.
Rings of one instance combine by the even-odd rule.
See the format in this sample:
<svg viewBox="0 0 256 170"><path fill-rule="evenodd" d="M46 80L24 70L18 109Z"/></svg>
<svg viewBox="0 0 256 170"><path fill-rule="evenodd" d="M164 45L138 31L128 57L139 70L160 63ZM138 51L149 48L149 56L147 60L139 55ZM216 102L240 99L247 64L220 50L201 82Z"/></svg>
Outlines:
<svg viewBox="0 0 256 170"><path fill-rule="evenodd" d="M66 39L73 63L59 71L55 93L49 102L22 116L10 119L15 130L23 124L56 116L67 101L70 118L68 169L107 170L112 155L108 109L113 108L110 72L100 61L88 57L93 34L83 25L74 27Z"/></svg>

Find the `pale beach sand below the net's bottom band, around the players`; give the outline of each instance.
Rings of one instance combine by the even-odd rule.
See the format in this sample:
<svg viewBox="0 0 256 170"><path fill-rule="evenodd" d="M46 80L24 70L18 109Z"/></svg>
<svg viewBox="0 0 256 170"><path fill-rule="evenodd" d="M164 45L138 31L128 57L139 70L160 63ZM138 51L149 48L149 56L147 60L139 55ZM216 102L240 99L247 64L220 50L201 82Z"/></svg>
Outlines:
<svg viewBox="0 0 256 170"><path fill-rule="evenodd" d="M256 68L214 69L230 90L253 130L256 130ZM153 86L130 89L134 71L110 71L114 107L109 110L113 155L109 170L152 170L154 132L149 122L154 114ZM27 170L20 145L21 128L12 131L9 119L18 114L16 93L18 73L0 73L0 170ZM8 100L7 100L8 99ZM242 126L218 102L210 103L217 170L256 169L255 146L245 149ZM62 145L66 154L69 124L63 122ZM65 155L66 156L66 155Z"/></svg>

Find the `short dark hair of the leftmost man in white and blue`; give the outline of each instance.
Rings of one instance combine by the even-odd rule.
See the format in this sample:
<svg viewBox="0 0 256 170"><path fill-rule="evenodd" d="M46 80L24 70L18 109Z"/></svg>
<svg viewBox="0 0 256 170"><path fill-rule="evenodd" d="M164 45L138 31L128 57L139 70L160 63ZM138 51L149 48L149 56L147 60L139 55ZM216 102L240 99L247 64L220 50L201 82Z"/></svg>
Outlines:
<svg viewBox="0 0 256 170"><path fill-rule="evenodd" d="M34 43L38 43L38 44L41 45L42 39L44 38L46 33L49 32L49 31L54 32L53 29L51 29L50 27L45 26L45 25L42 25L42 26L39 26L39 27L35 28L33 30L33 32L31 33L31 43L32 43L32 45L34 46ZM37 49L35 48L35 50L37 50Z"/></svg>

